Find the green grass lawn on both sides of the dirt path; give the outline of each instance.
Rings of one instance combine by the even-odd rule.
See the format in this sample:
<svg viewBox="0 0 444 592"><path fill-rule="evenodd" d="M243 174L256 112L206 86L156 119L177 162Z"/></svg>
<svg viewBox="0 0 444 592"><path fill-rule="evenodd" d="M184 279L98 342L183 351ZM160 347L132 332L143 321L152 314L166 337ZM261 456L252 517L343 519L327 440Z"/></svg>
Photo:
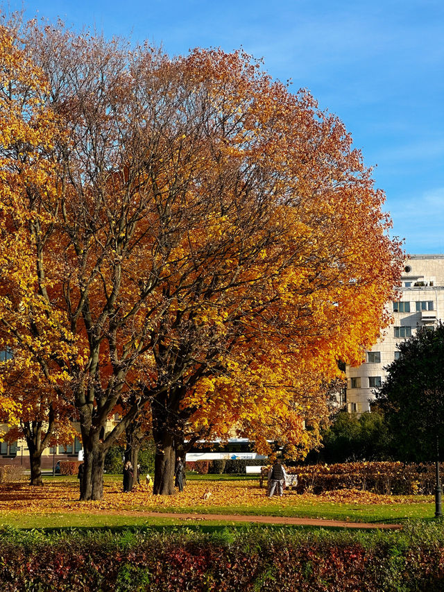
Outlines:
<svg viewBox="0 0 444 592"><path fill-rule="evenodd" d="M239 475L197 475L189 473L187 479L189 481L243 481L252 480L251 475L244 475L242 478ZM112 482L120 482L121 475L104 475L104 482L111 484ZM47 475L44 481L64 481L73 482L77 484L76 476ZM235 487L235 486L234 486ZM257 487L257 486L255 486ZM265 495L265 492L264 492ZM316 500L313 498L307 499L302 496L293 495L291 503L282 503L278 498L270 500L265 504L252 505L251 502L245 504L237 503L237 505L230 504L227 500L226 505L212 505L210 502L202 502L198 505L185 505L180 503L179 496L177 503L173 507L157 507L158 515L155 518L137 515L137 512L149 511L151 508L142 505L136 505L133 500L131 504L123 505L121 507L121 514L119 510L110 511L60 511L56 514L20 514L18 512L0 512L0 525L10 525L19 528L65 528L65 527L174 527L174 526L193 526L202 525L202 521L198 519L184 519L184 518L169 518L162 516L165 513L175 514L245 514L246 516L289 516L297 518L325 518L338 521L349 522L366 522L366 523L405 523L409 520L420 521L434 521L434 499L418 497L418 502L409 503L393 503L393 504L361 504L361 503L338 503L329 502L325 500ZM422 500L422 502L420 502ZM129 500L128 500L129 501ZM185 502L185 500L182 500ZM80 507L79 507L80 510ZM131 515L130 512L135 512ZM216 520L207 522L205 527L226 525L226 521ZM230 524L230 522L229 522ZM240 523L235 523L239 527Z"/></svg>

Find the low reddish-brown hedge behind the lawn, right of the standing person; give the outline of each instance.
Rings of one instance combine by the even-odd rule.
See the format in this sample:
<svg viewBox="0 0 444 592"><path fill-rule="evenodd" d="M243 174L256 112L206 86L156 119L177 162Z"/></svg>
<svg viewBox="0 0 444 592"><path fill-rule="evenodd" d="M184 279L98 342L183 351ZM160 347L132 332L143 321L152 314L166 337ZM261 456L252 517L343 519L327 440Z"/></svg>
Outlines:
<svg viewBox="0 0 444 592"><path fill-rule="evenodd" d="M384 495L430 495L436 487L434 464L347 462L295 466L287 471L298 474L299 493L361 489Z"/></svg>

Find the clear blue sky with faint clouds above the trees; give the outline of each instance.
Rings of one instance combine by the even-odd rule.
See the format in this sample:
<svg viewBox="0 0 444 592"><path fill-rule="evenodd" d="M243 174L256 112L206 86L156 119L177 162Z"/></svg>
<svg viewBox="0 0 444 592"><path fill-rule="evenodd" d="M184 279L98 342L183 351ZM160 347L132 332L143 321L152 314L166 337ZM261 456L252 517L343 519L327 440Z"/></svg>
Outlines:
<svg viewBox="0 0 444 592"><path fill-rule="evenodd" d="M9 0L171 55L243 46L338 115L376 166L393 235L408 253L444 253L443 0Z"/></svg>

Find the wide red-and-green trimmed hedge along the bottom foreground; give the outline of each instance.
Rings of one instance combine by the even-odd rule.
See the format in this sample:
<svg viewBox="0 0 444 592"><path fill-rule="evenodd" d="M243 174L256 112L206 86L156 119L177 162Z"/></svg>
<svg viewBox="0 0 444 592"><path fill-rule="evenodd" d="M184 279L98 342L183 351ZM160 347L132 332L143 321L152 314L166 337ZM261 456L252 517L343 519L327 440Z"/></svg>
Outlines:
<svg viewBox="0 0 444 592"><path fill-rule="evenodd" d="M441 592L441 525L407 532L0 531L2 592Z"/></svg>

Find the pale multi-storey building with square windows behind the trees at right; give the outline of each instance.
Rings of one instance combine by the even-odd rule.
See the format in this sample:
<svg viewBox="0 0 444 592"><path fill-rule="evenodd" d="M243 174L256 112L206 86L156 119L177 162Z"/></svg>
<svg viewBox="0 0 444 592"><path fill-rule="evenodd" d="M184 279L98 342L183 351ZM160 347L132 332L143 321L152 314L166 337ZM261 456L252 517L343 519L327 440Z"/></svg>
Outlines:
<svg viewBox="0 0 444 592"><path fill-rule="evenodd" d="M394 323L381 333L377 344L366 352L361 366L346 367L348 412L370 410L374 390L384 382L385 366L399 355L396 344L414 335L419 327L444 320L444 255L409 255L404 263L400 299L388 303Z"/></svg>

